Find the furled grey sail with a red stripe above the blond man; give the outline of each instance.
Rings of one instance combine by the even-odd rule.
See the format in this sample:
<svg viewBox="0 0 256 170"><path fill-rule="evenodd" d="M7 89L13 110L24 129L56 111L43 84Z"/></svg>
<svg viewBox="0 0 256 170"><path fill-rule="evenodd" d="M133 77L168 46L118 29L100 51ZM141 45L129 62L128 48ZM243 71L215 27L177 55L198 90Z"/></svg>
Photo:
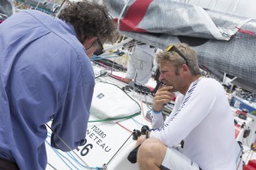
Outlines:
<svg viewBox="0 0 256 170"><path fill-rule="evenodd" d="M160 49L187 43L199 65L220 81L256 92L256 19L171 0L104 0L118 30Z"/></svg>

